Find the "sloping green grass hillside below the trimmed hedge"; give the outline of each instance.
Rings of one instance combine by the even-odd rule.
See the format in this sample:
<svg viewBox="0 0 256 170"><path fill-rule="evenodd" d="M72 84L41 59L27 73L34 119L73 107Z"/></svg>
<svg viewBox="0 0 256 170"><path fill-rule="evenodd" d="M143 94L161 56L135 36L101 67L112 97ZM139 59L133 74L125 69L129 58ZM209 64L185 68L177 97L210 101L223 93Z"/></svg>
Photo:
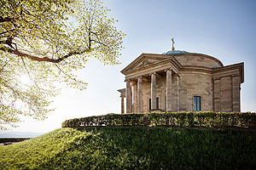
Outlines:
<svg viewBox="0 0 256 170"><path fill-rule="evenodd" d="M254 169L255 132L61 128L0 146L0 169Z"/></svg>

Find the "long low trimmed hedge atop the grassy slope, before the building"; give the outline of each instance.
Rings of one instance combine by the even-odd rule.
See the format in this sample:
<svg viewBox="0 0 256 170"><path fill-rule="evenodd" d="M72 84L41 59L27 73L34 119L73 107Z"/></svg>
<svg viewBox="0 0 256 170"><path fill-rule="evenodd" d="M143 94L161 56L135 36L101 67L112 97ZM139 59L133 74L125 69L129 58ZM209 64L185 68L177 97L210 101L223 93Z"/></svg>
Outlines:
<svg viewBox="0 0 256 170"><path fill-rule="evenodd" d="M256 113L199 111L108 114L75 118L62 122L62 127L88 126L243 127L256 129Z"/></svg>

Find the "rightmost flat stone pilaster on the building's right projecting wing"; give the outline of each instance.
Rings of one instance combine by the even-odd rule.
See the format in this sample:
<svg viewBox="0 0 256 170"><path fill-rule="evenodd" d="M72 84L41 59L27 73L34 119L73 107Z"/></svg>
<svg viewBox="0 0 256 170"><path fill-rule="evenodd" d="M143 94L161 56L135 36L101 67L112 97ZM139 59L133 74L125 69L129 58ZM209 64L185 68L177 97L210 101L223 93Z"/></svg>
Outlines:
<svg viewBox="0 0 256 170"><path fill-rule="evenodd" d="M233 111L240 112L240 77L232 77L232 107Z"/></svg>

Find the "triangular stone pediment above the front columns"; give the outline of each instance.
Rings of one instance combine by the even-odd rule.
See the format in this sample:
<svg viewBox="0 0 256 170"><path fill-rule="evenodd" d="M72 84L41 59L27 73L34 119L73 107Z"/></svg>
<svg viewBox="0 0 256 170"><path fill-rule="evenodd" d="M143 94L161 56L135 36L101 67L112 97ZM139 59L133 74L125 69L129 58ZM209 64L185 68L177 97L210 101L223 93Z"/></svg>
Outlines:
<svg viewBox="0 0 256 170"><path fill-rule="evenodd" d="M170 59L169 55L163 54L141 54L137 59L133 60L130 65L127 65L121 72L136 70L148 65L154 65L162 60Z"/></svg>

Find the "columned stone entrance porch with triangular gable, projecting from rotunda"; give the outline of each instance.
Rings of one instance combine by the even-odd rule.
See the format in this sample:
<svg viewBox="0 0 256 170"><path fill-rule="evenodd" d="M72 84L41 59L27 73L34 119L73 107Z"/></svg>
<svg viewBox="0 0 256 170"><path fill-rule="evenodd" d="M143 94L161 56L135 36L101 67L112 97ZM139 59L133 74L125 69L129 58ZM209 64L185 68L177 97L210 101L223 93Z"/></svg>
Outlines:
<svg viewBox="0 0 256 170"><path fill-rule="evenodd" d="M136 59L122 71L129 72L125 77L125 105L127 113L179 111L179 84L177 80L181 65L179 65L176 59L169 57L159 60L165 61L160 63L154 62L151 58L145 59L142 55L141 59ZM140 62L142 64L137 65L136 69L131 69L131 67L136 66ZM176 84L172 82L176 82ZM174 99L177 101L172 102ZM174 103L176 105L173 105ZM124 112L123 108L122 113Z"/></svg>

